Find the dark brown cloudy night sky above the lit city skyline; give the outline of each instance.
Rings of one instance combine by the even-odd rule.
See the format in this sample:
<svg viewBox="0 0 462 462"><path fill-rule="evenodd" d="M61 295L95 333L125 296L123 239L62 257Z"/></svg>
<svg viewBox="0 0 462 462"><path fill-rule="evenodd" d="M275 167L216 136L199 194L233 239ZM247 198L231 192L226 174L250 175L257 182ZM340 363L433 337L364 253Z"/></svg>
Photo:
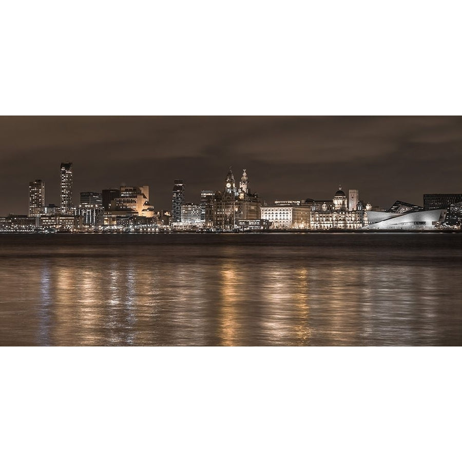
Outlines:
<svg viewBox="0 0 462 462"><path fill-rule="evenodd" d="M390 207L428 192L462 192L462 117L0 117L0 216L27 214L28 184L45 181L59 204L61 162L80 191L148 185L171 208L224 188L228 167L262 202L332 199L339 184Z"/></svg>

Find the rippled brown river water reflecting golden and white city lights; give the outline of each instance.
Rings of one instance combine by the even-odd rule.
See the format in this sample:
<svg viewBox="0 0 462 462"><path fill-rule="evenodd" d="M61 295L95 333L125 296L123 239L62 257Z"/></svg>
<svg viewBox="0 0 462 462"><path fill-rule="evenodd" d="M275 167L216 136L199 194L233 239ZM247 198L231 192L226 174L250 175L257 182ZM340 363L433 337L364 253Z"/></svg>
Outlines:
<svg viewBox="0 0 462 462"><path fill-rule="evenodd" d="M461 234L1 235L0 345L462 345Z"/></svg>

